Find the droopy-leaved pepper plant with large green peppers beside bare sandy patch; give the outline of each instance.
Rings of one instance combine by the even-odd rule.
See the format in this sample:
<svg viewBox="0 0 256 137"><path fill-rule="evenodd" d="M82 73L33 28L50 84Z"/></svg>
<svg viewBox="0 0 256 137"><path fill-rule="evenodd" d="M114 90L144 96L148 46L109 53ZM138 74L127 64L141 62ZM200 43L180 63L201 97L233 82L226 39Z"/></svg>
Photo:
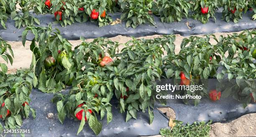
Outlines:
<svg viewBox="0 0 256 137"><path fill-rule="evenodd" d="M34 73L33 86L42 92L54 93L69 85L72 77L72 45L64 39L58 29L48 27L27 27L23 31L22 44L26 35L32 32L30 45L33 52L30 69Z"/></svg>

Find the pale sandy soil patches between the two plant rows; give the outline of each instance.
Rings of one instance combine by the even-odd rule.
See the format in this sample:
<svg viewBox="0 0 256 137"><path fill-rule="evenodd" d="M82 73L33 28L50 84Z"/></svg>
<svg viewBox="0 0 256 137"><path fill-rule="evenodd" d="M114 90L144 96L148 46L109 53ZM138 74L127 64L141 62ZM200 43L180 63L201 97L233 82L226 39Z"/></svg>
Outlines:
<svg viewBox="0 0 256 137"><path fill-rule="evenodd" d="M220 35L228 35L232 33L215 33L216 37L219 37ZM138 37L138 38L145 38L145 39L152 39L155 37L160 37L161 35L152 35L152 36L146 36L146 37ZM198 35L202 36L202 35ZM125 43L128 40L131 40L131 37L125 37L118 35L116 37L109 38L110 40L117 41L119 43ZM175 45L175 52L178 53L180 50L180 44L182 42L182 39L184 39L183 36L181 35L176 35L176 41L174 42ZM87 39L88 42L91 42L93 39ZM69 41L72 45L73 48L81 43L81 40L70 40ZM215 40L210 41L212 44L215 44ZM25 47L23 47L21 41L10 41L9 44L12 46L13 52L14 52L14 60L13 60L13 65L8 64L8 70L13 71L16 69L20 68L29 68L31 59L32 59L32 52L29 48L29 45L31 44L30 41L26 42ZM4 60L0 58L0 62L3 63Z"/></svg>

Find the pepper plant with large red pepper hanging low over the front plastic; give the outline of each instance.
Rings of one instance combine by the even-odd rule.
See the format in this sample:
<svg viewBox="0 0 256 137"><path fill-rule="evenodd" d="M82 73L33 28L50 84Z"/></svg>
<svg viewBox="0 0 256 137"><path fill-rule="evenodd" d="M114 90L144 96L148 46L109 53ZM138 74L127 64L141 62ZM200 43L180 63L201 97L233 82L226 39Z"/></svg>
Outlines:
<svg viewBox="0 0 256 137"><path fill-rule="evenodd" d="M84 41L84 38L81 39ZM66 115L81 121L77 134L82 131L88 120L90 128L98 135L102 124L97 120L97 114L101 119L107 115L108 123L113 118L112 105L109 103L113 97L113 80L108 68L99 64L105 55L113 57L117 46L115 42L98 38L93 42L84 41L75 47L74 62L77 72L73 88L69 95L54 95L53 102L56 102L61 123Z"/></svg>

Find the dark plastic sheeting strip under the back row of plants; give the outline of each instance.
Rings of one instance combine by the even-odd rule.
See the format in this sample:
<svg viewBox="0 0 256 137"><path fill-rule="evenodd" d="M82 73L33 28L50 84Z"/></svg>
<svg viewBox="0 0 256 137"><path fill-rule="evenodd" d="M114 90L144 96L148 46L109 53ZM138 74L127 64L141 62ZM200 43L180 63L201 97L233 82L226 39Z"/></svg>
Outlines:
<svg viewBox="0 0 256 137"><path fill-rule="evenodd" d="M97 37L115 37L117 35L123 36L148 36L148 35L163 35L163 34L180 34L182 36L209 34L215 32L238 32L242 30L251 30L256 28L256 21L251 20L252 11L248 11L243 15L243 19L238 23L232 21L225 22L220 20L222 13L221 9L216 11L217 21L212 18L206 24L202 24L198 20L183 19L181 22L162 23L160 17L154 16L154 25L139 25L136 29L132 27L125 27L125 21L116 25L107 25L105 27L98 27L96 23L90 21L85 23L75 22L67 27L61 27L59 24L53 24L53 28L58 28L61 31L61 35L68 40L79 40L80 36L85 38L97 38ZM120 18L121 13L115 13L113 20ZM49 22L54 22L54 15L34 15L41 21L40 26L48 26ZM186 22L189 22L187 27ZM7 30L0 27L0 37L4 40L18 41L22 39L22 32L24 28L17 29L15 27L14 20L8 20L6 23ZM37 25L38 26L38 25ZM33 39L33 35L27 36L28 40Z"/></svg>

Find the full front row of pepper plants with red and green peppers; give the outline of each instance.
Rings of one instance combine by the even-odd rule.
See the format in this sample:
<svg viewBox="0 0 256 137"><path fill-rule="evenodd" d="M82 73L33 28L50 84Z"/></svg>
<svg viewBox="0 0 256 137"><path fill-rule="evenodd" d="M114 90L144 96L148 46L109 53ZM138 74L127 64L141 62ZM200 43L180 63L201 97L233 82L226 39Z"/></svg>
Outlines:
<svg viewBox="0 0 256 137"><path fill-rule="evenodd" d="M1 115L7 126L19 126L20 116L28 117L29 110L35 116L28 105L31 85L42 92L54 93L52 102L56 103L61 123L66 117L81 121L77 134L88 122L98 135L102 129L98 118L106 117L108 123L113 119L110 104L113 98L119 101L118 106L113 107L126 113L126 122L136 119L138 111L147 111L151 124L154 103L165 102L156 99L156 94L159 94L155 91L156 82L161 78L177 79L179 85L202 85L209 78L218 79L220 83L235 79L225 88L219 86L208 92L204 87L203 90L185 90L179 94L201 95L212 101L233 96L244 103L255 102L256 67L253 60L256 58L256 30L219 39L215 35L188 37L182 41L178 54L174 52L175 35L150 40L133 38L124 44L106 38L87 42L81 37L82 43L72 50L69 41L51 25L27 27L23 31L23 45L30 33L34 35L30 45L33 52L30 72L8 76L5 74L6 65L1 64L1 75L5 76L1 77L0 84L0 101L5 103ZM210 39L217 44L211 44ZM6 52L10 45L3 43L1 56L11 62ZM217 72L219 67L223 67L221 72ZM62 94L60 91L66 86L72 86L72 89L68 94ZM195 105L200 103L199 99L192 101Z"/></svg>

